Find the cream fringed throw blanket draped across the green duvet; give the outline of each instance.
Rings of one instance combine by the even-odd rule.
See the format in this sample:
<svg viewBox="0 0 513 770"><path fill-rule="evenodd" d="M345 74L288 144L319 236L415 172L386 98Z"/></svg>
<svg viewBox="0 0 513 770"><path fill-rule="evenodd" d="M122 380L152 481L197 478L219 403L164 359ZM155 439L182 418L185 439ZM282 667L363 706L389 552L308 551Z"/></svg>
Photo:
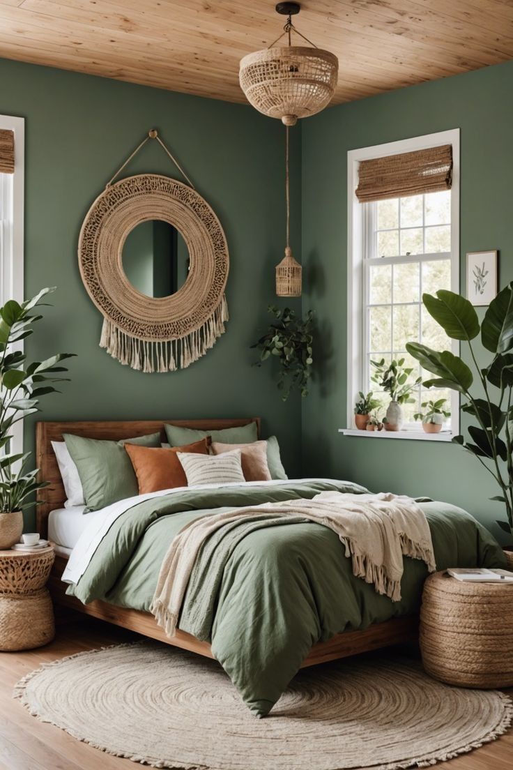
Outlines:
<svg viewBox="0 0 513 770"><path fill-rule="evenodd" d="M391 601L401 599L403 556L425 561L430 572L436 569L428 521L411 497L321 492L313 500L286 500L207 514L178 533L162 562L151 611L168 636L177 628L188 581L205 541L222 527L258 519L266 525L309 520L329 527L345 545L355 576L373 583L378 594Z"/></svg>

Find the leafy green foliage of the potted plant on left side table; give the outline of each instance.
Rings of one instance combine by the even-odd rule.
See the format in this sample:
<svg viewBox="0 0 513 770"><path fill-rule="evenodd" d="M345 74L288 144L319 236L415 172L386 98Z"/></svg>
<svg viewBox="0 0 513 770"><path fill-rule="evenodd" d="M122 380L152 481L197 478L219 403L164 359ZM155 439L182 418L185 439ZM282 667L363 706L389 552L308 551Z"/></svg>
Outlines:
<svg viewBox="0 0 513 770"><path fill-rule="evenodd" d="M43 289L32 300L19 304L8 300L0 308L0 513L23 511L34 505L35 492L48 486L38 481L38 470L28 470L30 452L9 451L12 428L24 417L40 411L39 397L57 392L53 383L65 380L60 363L74 353L57 353L45 361L27 363L15 343L25 340L42 316L32 311L53 289Z"/></svg>

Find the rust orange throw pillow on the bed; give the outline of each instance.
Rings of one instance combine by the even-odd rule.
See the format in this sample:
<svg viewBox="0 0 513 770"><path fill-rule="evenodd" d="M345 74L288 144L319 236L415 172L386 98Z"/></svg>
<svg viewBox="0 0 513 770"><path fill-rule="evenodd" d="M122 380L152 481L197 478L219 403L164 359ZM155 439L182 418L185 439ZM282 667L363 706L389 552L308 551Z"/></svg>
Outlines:
<svg viewBox="0 0 513 770"><path fill-rule="evenodd" d="M136 444L125 444L125 450L132 461L137 476L139 494L158 492L161 489L174 489L186 487L187 477L177 452L192 452L193 454L208 454L210 437L186 447L172 447L170 449L155 449L152 447L138 447ZM151 452L147 450L152 448ZM142 452L139 450L143 450Z"/></svg>

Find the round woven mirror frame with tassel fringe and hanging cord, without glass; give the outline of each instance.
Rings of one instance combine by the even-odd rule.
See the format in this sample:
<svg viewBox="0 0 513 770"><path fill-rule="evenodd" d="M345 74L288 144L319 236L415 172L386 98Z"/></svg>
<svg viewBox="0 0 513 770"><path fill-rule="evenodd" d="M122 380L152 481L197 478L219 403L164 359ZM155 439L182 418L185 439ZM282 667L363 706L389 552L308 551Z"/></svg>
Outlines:
<svg viewBox="0 0 513 770"><path fill-rule="evenodd" d="M104 317L100 346L121 363L145 372L185 369L225 331L228 246L221 223L182 172L187 184L159 174L114 179L136 152L157 139L152 130L108 182L85 217L78 263L85 288ZM188 273L169 296L148 296L128 280L122 252L141 223L161 220L181 234Z"/></svg>

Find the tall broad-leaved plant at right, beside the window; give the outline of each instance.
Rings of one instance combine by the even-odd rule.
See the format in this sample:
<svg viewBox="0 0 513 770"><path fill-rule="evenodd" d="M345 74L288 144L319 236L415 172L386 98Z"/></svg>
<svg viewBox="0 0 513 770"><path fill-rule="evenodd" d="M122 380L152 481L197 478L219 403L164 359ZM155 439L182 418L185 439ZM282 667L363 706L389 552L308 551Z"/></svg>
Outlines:
<svg viewBox="0 0 513 770"><path fill-rule="evenodd" d="M501 494L492 497L505 506L507 521L497 524L513 533L513 283L492 300L479 323L474 306L458 294L440 290L436 296L424 294L422 301L428 313L452 340L467 343L473 364L449 350L432 350L418 342L407 343L406 350L421 366L435 374L427 387L451 388L465 400L462 410L473 417L468 438L455 436L453 441L471 452L496 480ZM491 353L486 367L480 367L475 343L481 336L482 346ZM476 388L478 392L476 392Z"/></svg>

